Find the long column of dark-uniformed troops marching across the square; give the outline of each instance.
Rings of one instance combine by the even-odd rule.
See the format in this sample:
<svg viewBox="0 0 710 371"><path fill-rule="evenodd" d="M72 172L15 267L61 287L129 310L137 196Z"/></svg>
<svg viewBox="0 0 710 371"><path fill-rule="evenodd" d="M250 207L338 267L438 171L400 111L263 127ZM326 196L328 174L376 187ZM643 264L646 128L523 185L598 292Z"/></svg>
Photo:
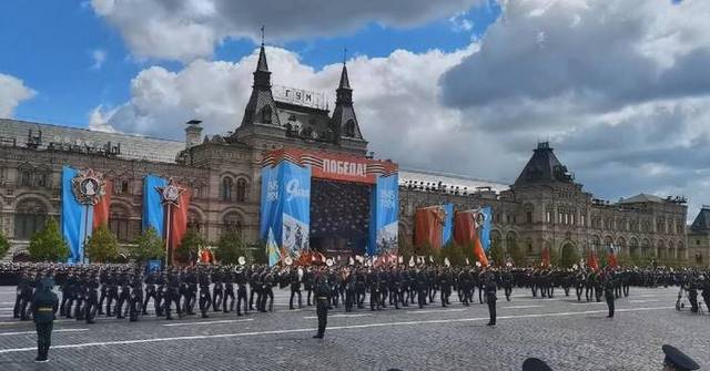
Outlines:
<svg viewBox="0 0 710 371"><path fill-rule="evenodd" d="M145 272L136 265L6 264L0 266L0 285L17 285L14 318L30 319L36 287L47 277L60 287L60 316L88 323L93 323L97 316L136 321L149 311L168 320L174 313L179 318L196 316L195 309L202 318L211 311L235 311L236 316L267 312L274 310L276 287L291 291L290 309L302 308L303 296L306 306L315 305L316 296L326 296L329 308L343 305L346 311L424 308L435 303L447 307L454 295L460 305L469 306L476 299L486 302L489 295L495 298L498 289L509 301L514 288L526 288L532 297L540 298L554 298L556 289L557 292L561 289L566 297L576 295L578 301L601 301L604 297L609 302L627 297L631 286L678 286L678 309L688 300L691 311L702 310L699 295L706 306L710 303L710 272L699 269L645 267L594 271L586 267L355 264L271 268L210 265Z"/></svg>

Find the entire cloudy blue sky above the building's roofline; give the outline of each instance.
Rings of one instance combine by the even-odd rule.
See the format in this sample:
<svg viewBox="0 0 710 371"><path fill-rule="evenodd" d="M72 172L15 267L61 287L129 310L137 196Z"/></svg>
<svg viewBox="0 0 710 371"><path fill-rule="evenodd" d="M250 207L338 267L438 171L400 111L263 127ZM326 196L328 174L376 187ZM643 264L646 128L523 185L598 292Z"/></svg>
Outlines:
<svg viewBox="0 0 710 371"><path fill-rule="evenodd" d="M511 183L549 141L585 189L710 204L707 0L0 2L0 116L232 131L260 29L272 82L335 99L377 157Z"/></svg>

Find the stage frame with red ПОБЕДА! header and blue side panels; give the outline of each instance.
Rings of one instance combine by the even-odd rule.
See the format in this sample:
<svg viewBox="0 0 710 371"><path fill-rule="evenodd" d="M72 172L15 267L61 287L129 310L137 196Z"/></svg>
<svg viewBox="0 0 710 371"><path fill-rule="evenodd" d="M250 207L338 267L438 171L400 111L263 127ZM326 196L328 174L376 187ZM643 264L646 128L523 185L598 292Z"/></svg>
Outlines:
<svg viewBox="0 0 710 371"><path fill-rule="evenodd" d="M308 249L311 178L369 184L367 253L397 247L398 175L392 162L298 148L265 153L262 162L260 237L280 257ZM271 236L271 237L270 237ZM277 259L270 259L275 261Z"/></svg>

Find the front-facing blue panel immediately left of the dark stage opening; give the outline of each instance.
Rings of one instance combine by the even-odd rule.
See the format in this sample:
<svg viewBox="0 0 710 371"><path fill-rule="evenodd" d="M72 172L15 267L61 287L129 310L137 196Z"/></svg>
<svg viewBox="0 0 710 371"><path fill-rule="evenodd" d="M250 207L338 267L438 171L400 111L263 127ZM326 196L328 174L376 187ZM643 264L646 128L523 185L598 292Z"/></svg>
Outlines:
<svg viewBox="0 0 710 371"><path fill-rule="evenodd" d="M308 249L311 228L311 167L298 166L291 162L278 165L282 188L282 253L296 256Z"/></svg>

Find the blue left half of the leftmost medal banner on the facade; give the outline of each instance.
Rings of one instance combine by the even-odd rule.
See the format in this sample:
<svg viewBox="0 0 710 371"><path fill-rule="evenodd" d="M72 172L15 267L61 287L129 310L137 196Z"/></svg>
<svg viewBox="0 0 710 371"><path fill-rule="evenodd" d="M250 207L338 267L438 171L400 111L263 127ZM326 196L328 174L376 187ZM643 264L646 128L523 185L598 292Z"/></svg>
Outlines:
<svg viewBox="0 0 710 371"><path fill-rule="evenodd" d="M79 204L72 192L71 181L79 174L73 167L62 167L62 235L69 245L69 258L67 262L75 264L84 261L84 236L87 233L88 207ZM93 219L89 220L93 223Z"/></svg>

